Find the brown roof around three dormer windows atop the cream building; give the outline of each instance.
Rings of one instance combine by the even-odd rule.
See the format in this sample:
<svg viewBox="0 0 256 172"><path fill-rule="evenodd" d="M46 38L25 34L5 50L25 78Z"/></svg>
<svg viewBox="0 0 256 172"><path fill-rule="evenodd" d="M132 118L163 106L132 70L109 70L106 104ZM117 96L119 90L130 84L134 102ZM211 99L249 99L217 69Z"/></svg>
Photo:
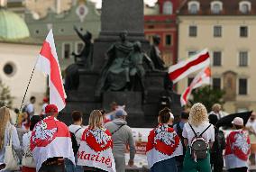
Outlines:
<svg viewBox="0 0 256 172"><path fill-rule="evenodd" d="M189 14L189 2L198 2L200 9L197 14ZM219 14L213 14L211 10L212 2L221 2L223 10ZM242 14L240 11L240 3L251 3L251 11L247 14ZM187 0L179 9L178 15L255 15L256 14L256 1L255 0Z"/></svg>

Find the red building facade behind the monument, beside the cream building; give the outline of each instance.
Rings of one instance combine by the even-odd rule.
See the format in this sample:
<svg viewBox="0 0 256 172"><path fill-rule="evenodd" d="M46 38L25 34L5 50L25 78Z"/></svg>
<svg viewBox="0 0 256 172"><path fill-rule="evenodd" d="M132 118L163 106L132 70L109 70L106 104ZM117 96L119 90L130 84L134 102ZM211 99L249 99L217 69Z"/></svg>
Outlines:
<svg viewBox="0 0 256 172"><path fill-rule="evenodd" d="M177 61L178 27L177 10L181 0L159 0L154 7L145 8L144 32L151 41L153 35L161 38L160 51L166 65Z"/></svg>

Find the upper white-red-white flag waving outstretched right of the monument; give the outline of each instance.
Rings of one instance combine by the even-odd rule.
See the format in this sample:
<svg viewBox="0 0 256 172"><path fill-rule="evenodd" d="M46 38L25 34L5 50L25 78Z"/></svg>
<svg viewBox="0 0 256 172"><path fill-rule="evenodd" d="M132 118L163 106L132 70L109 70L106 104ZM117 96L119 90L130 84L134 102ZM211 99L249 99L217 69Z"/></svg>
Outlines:
<svg viewBox="0 0 256 172"><path fill-rule="evenodd" d="M191 58L178 62L178 64L169 67L169 79L173 84L177 83L189 74L210 65L210 56L208 50L193 55Z"/></svg>

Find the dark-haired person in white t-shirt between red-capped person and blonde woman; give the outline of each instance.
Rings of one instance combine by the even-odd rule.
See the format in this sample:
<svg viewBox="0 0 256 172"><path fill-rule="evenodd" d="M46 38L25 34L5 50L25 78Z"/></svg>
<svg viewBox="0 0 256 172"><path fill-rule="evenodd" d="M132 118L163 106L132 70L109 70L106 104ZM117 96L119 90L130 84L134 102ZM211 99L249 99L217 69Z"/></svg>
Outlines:
<svg viewBox="0 0 256 172"><path fill-rule="evenodd" d="M73 124L69 125L69 132L76 137L76 140L77 140L76 145L79 148L82 135L85 131L85 129L83 129L82 127L82 122L83 122L82 113L80 113L79 111L72 112L72 120L73 120ZM74 142L72 142L72 144L74 144ZM78 162L78 148L73 147L76 163ZM65 164L66 164L67 172L75 172L75 171L83 172L84 171L83 167L81 166L74 167L73 163L69 161L69 159L65 160Z"/></svg>

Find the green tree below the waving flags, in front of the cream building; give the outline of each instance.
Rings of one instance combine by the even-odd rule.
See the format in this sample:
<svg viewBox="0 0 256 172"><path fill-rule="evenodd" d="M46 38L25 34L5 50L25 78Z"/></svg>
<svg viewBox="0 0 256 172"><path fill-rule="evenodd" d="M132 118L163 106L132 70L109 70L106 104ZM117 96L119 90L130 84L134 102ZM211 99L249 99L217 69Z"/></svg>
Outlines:
<svg viewBox="0 0 256 172"><path fill-rule="evenodd" d="M208 112L212 110L213 104L224 104L224 91L220 89L213 89L211 86L199 87L192 91L192 95L193 97L189 102L191 104L204 104Z"/></svg>

